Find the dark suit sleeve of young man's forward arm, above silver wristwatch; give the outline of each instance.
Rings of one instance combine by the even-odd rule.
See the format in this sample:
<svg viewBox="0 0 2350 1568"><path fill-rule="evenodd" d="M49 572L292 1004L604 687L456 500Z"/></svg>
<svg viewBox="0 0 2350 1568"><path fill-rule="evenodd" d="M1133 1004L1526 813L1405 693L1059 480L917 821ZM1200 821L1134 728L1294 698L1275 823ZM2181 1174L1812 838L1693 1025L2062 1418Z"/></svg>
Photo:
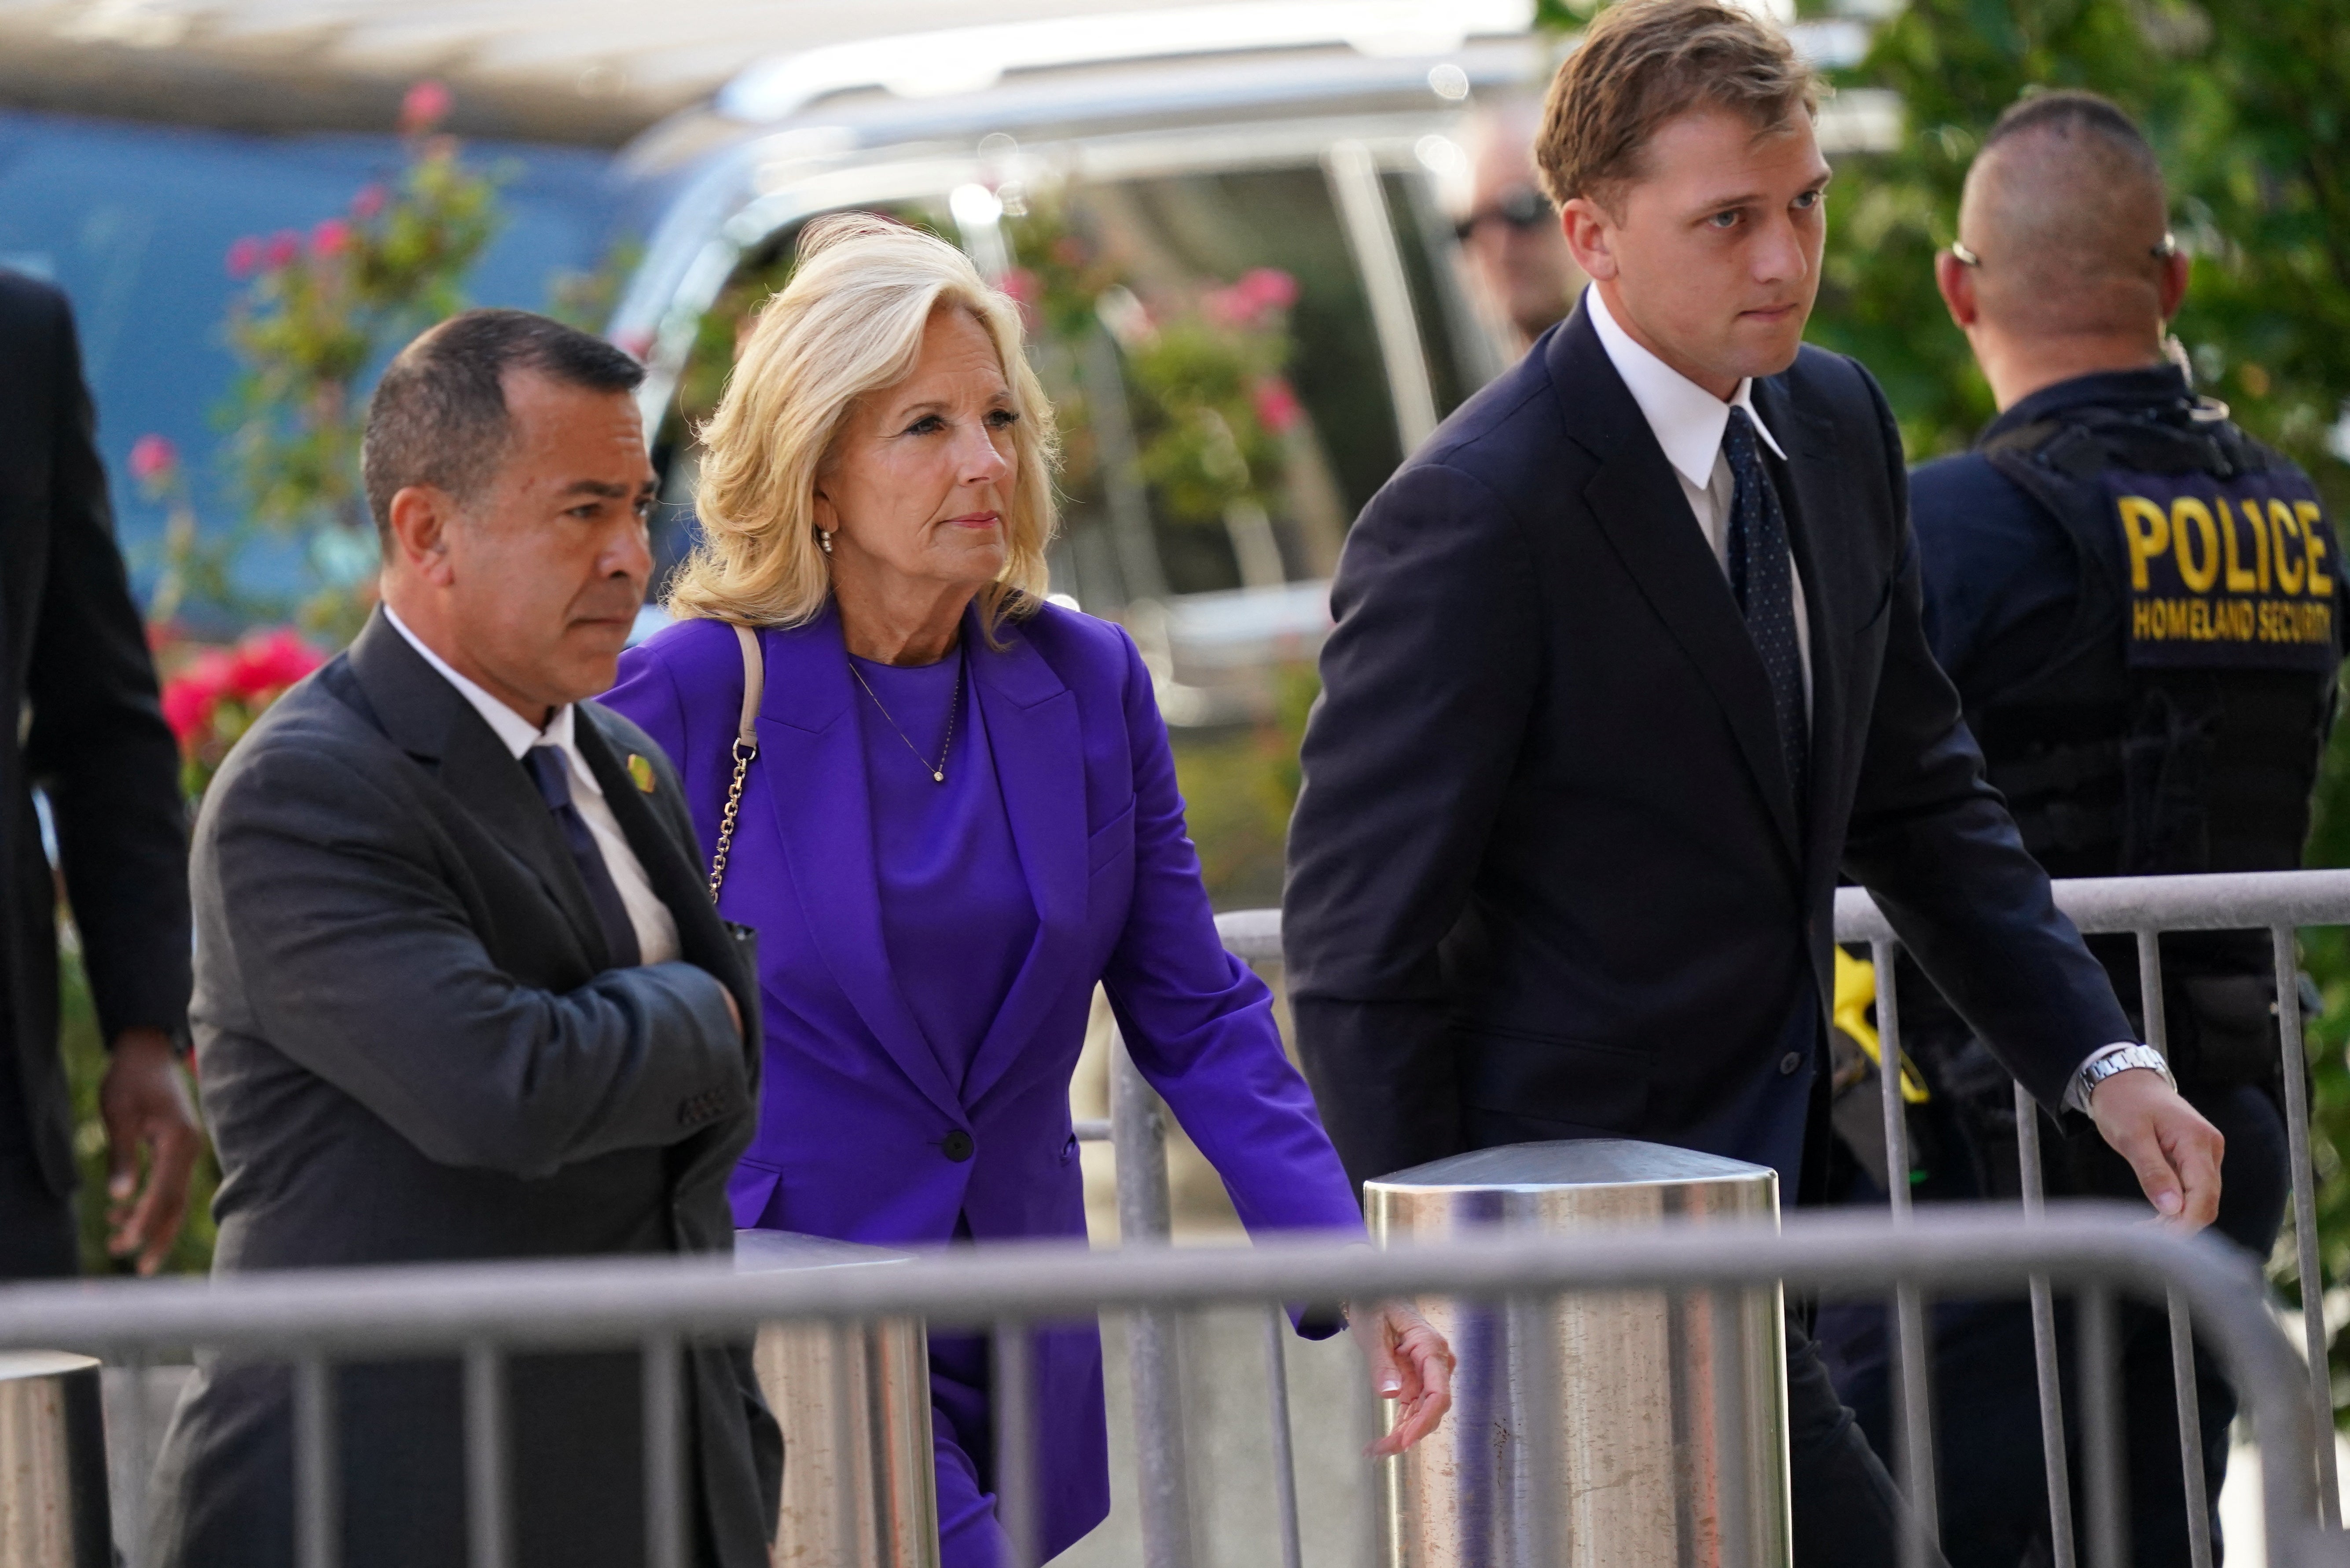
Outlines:
<svg viewBox="0 0 2350 1568"><path fill-rule="evenodd" d="M1986 783L1958 691L1927 649L1899 435L1882 397L1878 409L1894 454L1904 550L1845 870L1875 896L1967 1027L2056 1112L2082 1060L2131 1037L2129 1020Z"/></svg>

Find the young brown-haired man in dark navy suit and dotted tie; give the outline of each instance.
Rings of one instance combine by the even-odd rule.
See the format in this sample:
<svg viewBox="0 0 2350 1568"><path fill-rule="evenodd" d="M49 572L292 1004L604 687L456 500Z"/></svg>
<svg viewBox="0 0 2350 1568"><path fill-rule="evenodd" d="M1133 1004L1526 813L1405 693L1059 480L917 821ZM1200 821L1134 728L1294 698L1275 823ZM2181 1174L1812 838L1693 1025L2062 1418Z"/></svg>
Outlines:
<svg viewBox="0 0 2350 1568"><path fill-rule="evenodd" d="M1372 498L1332 585L1283 940L1356 1180L1640 1138L1826 1154L1838 872L2181 1227L2218 1133L2131 1041L1920 630L1901 442L1802 348L1828 165L1786 38L1610 7L1537 160L1596 280ZM1791 1316L1795 1561L1889 1563L1901 1502Z"/></svg>

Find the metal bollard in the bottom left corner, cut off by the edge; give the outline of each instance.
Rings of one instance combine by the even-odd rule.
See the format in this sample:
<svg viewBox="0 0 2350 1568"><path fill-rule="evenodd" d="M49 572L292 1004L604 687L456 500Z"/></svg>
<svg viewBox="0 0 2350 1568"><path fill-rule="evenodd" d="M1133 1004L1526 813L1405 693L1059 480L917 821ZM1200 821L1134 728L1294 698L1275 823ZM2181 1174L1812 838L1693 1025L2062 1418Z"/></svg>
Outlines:
<svg viewBox="0 0 2350 1568"><path fill-rule="evenodd" d="M0 1352L0 1563L113 1561L99 1363L56 1349Z"/></svg>

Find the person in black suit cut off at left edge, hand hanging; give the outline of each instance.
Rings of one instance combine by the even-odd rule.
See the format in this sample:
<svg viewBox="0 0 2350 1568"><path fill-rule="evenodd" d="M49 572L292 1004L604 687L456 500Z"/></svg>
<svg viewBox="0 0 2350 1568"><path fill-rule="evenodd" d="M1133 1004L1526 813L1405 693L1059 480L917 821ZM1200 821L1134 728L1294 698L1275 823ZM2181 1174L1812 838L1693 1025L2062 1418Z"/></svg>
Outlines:
<svg viewBox="0 0 2350 1568"><path fill-rule="evenodd" d="M73 1110L56 1051L56 877L108 1046L115 1255L153 1274L202 1147L179 1067L188 1030L188 809L179 745L115 548L73 310L0 270L0 1281L73 1274ZM26 715L31 722L19 722ZM141 1182L141 1152L146 1180Z"/></svg>

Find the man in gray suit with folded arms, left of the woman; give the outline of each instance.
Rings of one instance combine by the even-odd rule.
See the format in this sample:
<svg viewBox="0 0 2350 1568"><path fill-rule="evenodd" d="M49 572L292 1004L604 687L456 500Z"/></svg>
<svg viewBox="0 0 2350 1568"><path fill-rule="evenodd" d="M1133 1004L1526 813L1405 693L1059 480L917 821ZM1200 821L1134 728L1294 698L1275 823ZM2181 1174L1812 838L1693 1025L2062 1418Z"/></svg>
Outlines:
<svg viewBox="0 0 2350 1568"><path fill-rule="evenodd" d="M754 971L670 762L585 701L651 571L639 378L472 310L376 390L383 609L237 745L195 830L221 1272L733 1244ZM294 1561L289 1389L284 1366L197 1373L164 1563ZM682 1394L689 1561L764 1566L783 1455L750 1356L691 1349ZM468 1561L456 1366L343 1366L336 1408L343 1563ZM515 1356L508 1410L512 1561L644 1563L634 1352Z"/></svg>

